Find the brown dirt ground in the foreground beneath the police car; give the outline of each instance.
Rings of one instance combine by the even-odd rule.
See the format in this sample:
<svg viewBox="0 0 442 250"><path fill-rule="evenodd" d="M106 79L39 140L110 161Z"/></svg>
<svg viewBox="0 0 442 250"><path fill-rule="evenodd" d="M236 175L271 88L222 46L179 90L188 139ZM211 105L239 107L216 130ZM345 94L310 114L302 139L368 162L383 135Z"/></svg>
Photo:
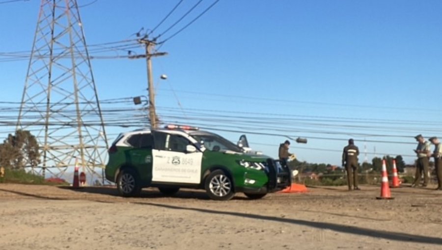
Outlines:
<svg viewBox="0 0 442 250"><path fill-rule="evenodd" d="M309 188L248 200L202 191L0 184L0 250L442 249L442 192L378 186Z"/></svg>

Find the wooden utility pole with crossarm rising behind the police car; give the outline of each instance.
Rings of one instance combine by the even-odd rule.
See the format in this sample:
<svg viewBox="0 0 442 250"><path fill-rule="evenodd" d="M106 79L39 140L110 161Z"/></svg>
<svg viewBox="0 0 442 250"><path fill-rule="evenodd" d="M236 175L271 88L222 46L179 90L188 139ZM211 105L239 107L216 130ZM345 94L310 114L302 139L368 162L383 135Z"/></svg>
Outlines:
<svg viewBox="0 0 442 250"><path fill-rule="evenodd" d="M153 56L163 56L167 55L166 52L156 52L152 53L155 49L156 43L147 38L138 39L140 44L144 44L146 47L145 55L135 55L129 58L138 59L138 58L146 58L147 63L147 92L149 94L149 120L151 128L157 128L157 114L155 111L155 89L153 84L153 74L152 74L152 57Z"/></svg>

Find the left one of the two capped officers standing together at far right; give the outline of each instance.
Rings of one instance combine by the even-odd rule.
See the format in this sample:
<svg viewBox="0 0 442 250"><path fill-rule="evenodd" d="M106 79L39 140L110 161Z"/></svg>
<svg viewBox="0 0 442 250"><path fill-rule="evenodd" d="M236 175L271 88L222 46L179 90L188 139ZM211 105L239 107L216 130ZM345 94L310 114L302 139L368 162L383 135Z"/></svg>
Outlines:
<svg viewBox="0 0 442 250"><path fill-rule="evenodd" d="M415 187L420 183L422 174L424 175L424 183L422 184L422 186L426 187L429 179L428 153L430 153L430 143L425 141L425 138L423 138L421 134L414 136L414 139L416 139L418 144L417 148L414 150L414 152L417 155L417 161L416 161L416 174L414 176L414 182L412 184L412 187Z"/></svg>

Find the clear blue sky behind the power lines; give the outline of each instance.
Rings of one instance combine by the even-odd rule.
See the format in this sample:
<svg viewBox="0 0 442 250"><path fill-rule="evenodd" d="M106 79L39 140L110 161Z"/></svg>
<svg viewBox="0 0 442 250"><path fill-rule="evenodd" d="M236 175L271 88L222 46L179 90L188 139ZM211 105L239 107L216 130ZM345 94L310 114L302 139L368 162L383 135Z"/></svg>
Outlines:
<svg viewBox="0 0 442 250"><path fill-rule="evenodd" d="M214 1L202 0L158 41ZM86 43L137 39L178 2L78 0ZM151 37L197 2L183 0ZM39 0L0 0L0 101L21 101L28 59L2 61L1 53L31 50L39 7ZM153 59L157 113L164 123L234 142L245 133L251 148L273 157L289 139L299 160L340 165L354 138L360 162L400 154L413 163L415 135L442 136L441 11L440 0L220 0L158 50L168 54ZM100 100L147 95L145 60L91 64ZM114 107L138 108L131 102ZM135 128L106 130L112 141ZM13 130L2 126L0 137Z"/></svg>

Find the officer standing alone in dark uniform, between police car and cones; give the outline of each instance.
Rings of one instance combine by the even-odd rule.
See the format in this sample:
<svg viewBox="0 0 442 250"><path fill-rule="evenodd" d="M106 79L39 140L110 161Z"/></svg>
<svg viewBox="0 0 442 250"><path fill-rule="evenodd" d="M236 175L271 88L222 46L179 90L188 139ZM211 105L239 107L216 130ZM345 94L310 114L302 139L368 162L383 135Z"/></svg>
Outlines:
<svg viewBox="0 0 442 250"><path fill-rule="evenodd" d="M359 149L355 146L353 139L348 140L348 145L342 152L342 166L347 171L348 190L360 190L358 187L358 155ZM353 179L352 179L353 178Z"/></svg>

